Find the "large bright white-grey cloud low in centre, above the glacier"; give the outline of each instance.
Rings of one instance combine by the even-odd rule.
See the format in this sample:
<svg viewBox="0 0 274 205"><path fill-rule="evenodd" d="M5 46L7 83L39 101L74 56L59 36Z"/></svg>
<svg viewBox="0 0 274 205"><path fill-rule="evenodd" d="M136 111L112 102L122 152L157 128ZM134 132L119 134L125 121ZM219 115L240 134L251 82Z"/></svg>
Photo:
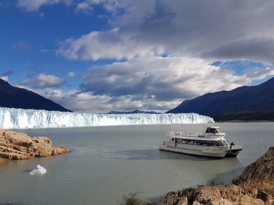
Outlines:
<svg viewBox="0 0 274 205"><path fill-rule="evenodd" d="M236 75L199 58L142 57L90 68L80 90L93 96L109 96L112 107L120 110L127 105L166 111L182 100L232 90L258 78Z"/></svg>

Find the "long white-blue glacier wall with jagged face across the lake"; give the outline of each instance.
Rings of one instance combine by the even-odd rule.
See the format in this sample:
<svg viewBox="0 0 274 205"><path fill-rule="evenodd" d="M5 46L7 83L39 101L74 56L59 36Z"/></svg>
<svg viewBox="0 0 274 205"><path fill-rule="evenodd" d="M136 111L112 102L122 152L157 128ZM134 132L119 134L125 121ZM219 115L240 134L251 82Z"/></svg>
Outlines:
<svg viewBox="0 0 274 205"><path fill-rule="evenodd" d="M133 124L201 124L214 120L197 113L93 114L0 107L0 128L57 128Z"/></svg>

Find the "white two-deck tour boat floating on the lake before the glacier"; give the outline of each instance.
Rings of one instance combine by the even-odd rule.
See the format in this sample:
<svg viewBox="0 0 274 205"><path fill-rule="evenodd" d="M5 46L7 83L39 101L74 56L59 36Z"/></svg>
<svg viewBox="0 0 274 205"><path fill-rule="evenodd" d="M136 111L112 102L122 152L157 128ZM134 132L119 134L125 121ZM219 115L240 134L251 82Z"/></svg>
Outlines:
<svg viewBox="0 0 274 205"><path fill-rule="evenodd" d="M194 133L185 132L180 126L171 126L166 132L166 141L160 144L160 150L216 158L237 156L242 150L240 145L229 144L218 126L205 128L204 133Z"/></svg>

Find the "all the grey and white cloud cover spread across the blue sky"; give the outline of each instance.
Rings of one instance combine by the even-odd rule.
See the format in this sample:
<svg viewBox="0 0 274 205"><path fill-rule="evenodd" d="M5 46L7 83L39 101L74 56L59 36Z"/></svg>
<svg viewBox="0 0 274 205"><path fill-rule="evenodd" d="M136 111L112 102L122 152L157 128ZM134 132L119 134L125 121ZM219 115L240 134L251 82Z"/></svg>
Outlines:
<svg viewBox="0 0 274 205"><path fill-rule="evenodd" d="M92 15L100 8L108 25L61 40L56 54L90 64L112 60L90 66L78 90L66 93L53 89L64 85L55 76L23 82L33 89L47 87L43 94L68 109L166 111L182 100L274 74L272 1L19 0L18 7L37 12L58 3L73 6L75 15ZM222 63L214 66L214 61ZM224 66L227 61L251 63L237 70ZM67 77L73 79L75 73L71 70Z"/></svg>

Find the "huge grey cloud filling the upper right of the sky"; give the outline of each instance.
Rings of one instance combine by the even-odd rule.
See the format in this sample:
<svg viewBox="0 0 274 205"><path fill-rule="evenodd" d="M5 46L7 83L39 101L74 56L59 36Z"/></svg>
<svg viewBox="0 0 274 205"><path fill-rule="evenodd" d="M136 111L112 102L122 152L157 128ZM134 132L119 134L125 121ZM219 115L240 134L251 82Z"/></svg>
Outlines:
<svg viewBox="0 0 274 205"><path fill-rule="evenodd" d="M169 55L274 63L273 2L114 2L83 1L86 6L101 3L112 29L64 40L58 54L92 60Z"/></svg>

